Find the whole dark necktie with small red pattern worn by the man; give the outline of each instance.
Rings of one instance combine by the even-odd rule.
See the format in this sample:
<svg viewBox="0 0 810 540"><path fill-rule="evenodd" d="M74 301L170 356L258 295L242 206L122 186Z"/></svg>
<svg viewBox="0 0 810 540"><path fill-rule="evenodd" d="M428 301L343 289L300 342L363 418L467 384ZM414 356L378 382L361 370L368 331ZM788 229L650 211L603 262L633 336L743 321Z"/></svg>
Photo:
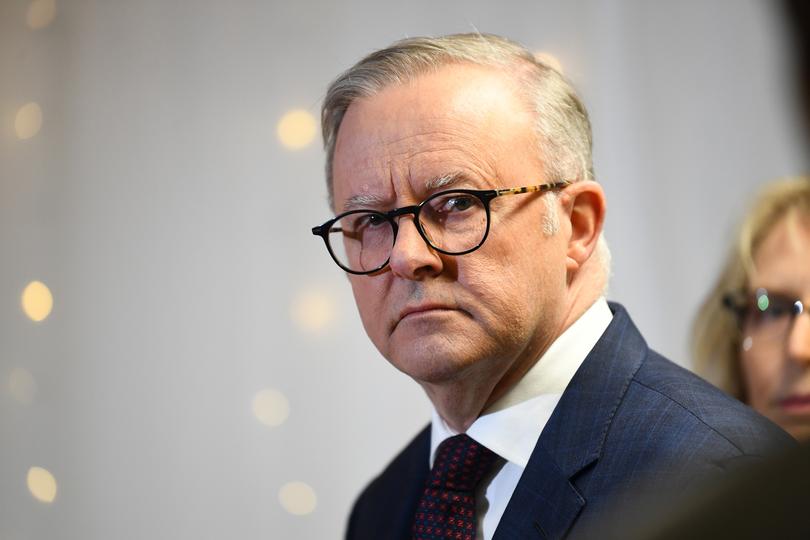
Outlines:
<svg viewBox="0 0 810 540"><path fill-rule="evenodd" d="M414 540L475 540L475 487L497 457L464 434L439 445L416 507Z"/></svg>

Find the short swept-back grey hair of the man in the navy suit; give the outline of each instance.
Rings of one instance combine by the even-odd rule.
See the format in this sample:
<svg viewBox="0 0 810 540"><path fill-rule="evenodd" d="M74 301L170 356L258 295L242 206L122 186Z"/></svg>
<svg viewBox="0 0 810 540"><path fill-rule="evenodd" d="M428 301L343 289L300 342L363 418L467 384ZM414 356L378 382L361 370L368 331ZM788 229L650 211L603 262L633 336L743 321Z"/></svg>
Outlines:
<svg viewBox="0 0 810 540"><path fill-rule="evenodd" d="M391 85L450 65L470 63L506 69L536 112L536 134L547 181L592 180L591 124L571 84L525 47L492 34L415 37L373 52L339 75L321 108L326 183L334 208L332 165L343 117L351 104Z"/></svg>

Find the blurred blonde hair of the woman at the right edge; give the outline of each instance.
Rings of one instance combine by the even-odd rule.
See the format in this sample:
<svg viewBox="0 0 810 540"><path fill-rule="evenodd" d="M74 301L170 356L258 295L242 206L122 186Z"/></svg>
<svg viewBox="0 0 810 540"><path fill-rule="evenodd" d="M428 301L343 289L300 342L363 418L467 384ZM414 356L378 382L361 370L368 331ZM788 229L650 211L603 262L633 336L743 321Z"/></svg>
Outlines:
<svg viewBox="0 0 810 540"><path fill-rule="evenodd" d="M741 336L723 297L748 287L757 249L774 225L791 216L810 216L810 176L772 182L760 192L692 328L695 370L742 401L746 396L739 362Z"/></svg>

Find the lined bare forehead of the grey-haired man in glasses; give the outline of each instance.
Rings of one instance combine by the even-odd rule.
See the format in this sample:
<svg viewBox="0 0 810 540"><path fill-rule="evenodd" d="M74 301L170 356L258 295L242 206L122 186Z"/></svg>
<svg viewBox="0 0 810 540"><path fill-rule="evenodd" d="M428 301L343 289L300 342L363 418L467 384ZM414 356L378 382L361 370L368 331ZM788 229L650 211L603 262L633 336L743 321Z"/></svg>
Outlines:
<svg viewBox="0 0 810 540"><path fill-rule="evenodd" d="M517 155L539 161L533 119L512 78L466 64L358 99L335 144L336 209L347 197L395 197L448 173L493 180Z"/></svg>

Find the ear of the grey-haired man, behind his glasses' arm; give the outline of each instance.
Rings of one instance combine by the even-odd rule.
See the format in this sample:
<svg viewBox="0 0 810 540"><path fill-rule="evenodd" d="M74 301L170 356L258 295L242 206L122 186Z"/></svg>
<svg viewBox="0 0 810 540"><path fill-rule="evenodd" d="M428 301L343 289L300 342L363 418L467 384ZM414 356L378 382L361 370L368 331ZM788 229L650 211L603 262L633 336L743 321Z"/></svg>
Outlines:
<svg viewBox="0 0 810 540"><path fill-rule="evenodd" d="M571 227L565 265L573 275L596 249L605 223L605 192L593 180L580 180L565 188L561 199Z"/></svg>

